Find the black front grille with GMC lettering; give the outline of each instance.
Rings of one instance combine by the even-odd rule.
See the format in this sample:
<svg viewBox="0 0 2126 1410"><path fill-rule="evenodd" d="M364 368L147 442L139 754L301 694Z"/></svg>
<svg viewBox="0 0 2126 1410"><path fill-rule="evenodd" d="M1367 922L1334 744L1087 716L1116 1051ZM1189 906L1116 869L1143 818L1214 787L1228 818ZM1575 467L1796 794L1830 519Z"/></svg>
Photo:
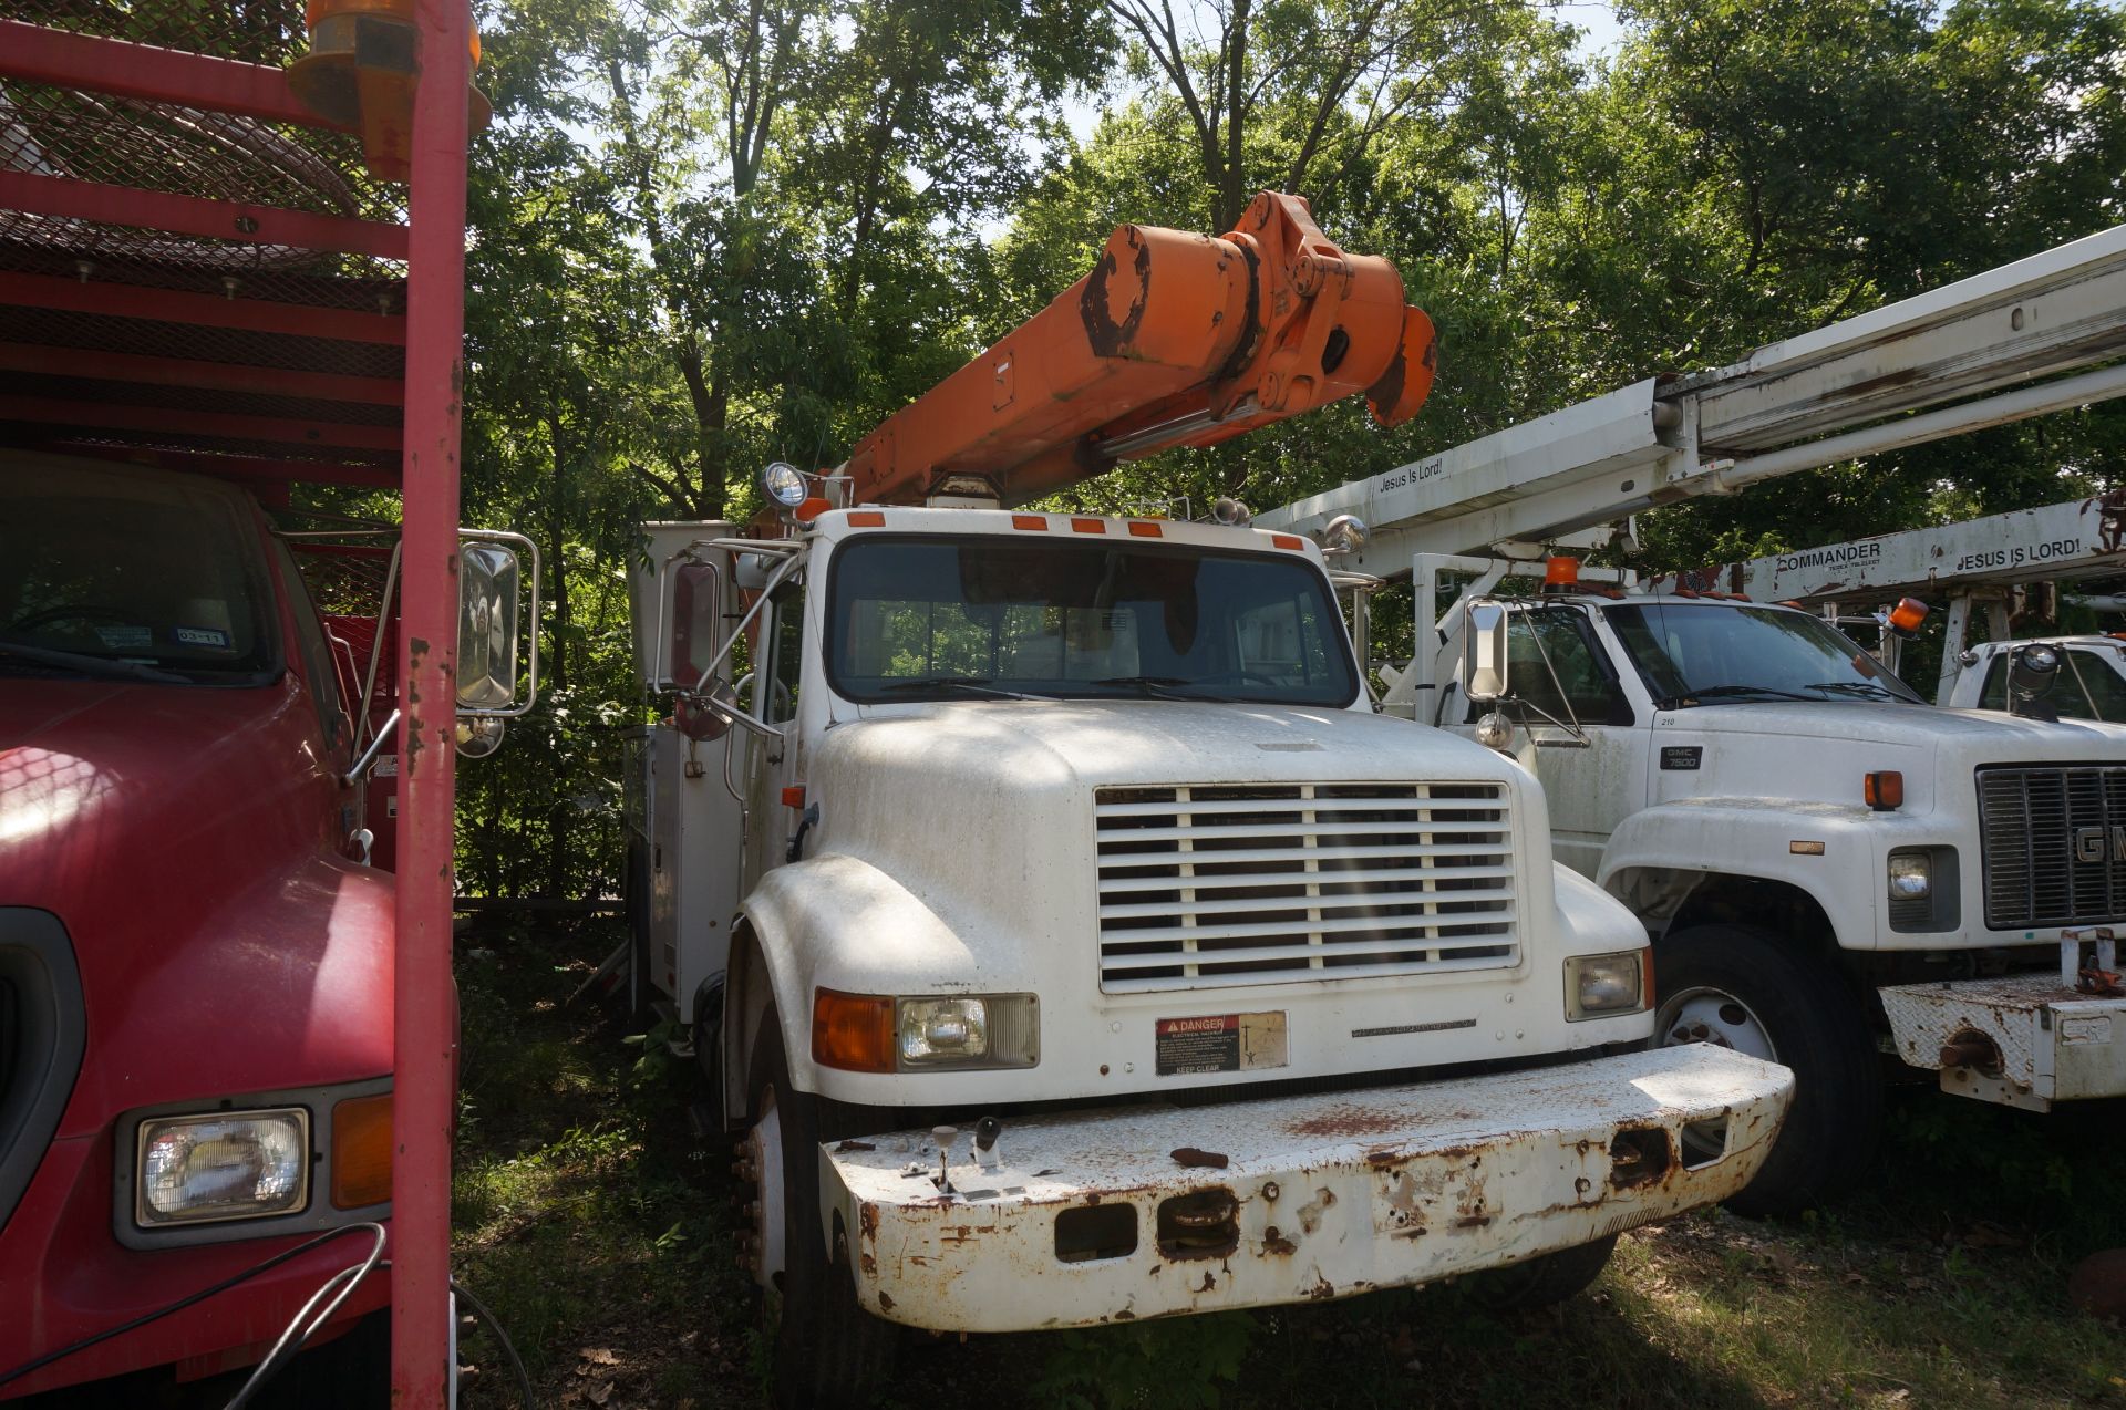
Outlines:
<svg viewBox="0 0 2126 1410"><path fill-rule="evenodd" d="M2126 919L2126 764L1979 769L1979 845L1992 930Z"/></svg>

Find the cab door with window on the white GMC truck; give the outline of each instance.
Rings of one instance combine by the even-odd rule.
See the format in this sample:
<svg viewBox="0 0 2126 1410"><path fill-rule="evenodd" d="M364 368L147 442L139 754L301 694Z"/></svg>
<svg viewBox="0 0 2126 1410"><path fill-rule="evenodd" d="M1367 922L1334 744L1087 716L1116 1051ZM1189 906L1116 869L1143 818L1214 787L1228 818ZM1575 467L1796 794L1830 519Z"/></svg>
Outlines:
<svg viewBox="0 0 2126 1410"><path fill-rule="evenodd" d="M1514 722L1514 754L1543 784L1556 858L1590 879L1616 824L1646 807L1652 711L1616 660L1580 607L1507 609L1507 697L1495 707ZM1458 735L1473 735L1492 709L1461 690L1446 707Z"/></svg>

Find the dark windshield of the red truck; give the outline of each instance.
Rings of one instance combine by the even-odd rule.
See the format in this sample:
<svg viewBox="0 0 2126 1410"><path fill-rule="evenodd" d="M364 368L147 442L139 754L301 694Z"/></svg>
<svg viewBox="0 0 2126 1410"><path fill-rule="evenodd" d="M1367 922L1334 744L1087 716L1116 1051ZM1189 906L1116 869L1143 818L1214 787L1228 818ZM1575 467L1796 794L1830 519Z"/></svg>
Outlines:
<svg viewBox="0 0 2126 1410"><path fill-rule="evenodd" d="M0 463L0 673L259 684L266 565L238 505L153 471Z"/></svg>

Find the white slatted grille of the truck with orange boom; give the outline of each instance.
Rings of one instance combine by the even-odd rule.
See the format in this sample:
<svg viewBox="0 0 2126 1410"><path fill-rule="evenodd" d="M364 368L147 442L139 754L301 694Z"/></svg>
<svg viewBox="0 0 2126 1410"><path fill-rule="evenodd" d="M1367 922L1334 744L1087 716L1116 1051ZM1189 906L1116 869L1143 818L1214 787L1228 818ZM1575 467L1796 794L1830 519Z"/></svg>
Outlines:
<svg viewBox="0 0 2126 1410"><path fill-rule="evenodd" d="M1099 987L1505 968L1503 784L1101 788Z"/></svg>

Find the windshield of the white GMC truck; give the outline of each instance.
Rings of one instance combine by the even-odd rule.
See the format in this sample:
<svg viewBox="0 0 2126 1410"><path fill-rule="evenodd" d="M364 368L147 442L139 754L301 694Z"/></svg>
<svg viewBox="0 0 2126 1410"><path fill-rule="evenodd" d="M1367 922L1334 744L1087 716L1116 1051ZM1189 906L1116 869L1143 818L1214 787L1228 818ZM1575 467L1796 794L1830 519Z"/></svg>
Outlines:
<svg viewBox="0 0 2126 1410"><path fill-rule="evenodd" d="M1660 709L1735 701L1920 697L1843 633L1786 607L1631 603L1607 607Z"/></svg>

